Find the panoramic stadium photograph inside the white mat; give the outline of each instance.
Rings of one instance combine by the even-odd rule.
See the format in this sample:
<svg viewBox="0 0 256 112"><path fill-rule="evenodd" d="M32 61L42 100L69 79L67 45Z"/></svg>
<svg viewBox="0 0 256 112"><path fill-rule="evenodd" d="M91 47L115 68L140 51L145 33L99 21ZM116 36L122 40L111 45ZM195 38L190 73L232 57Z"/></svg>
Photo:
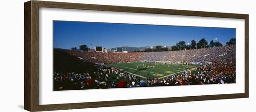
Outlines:
<svg viewBox="0 0 256 112"><path fill-rule="evenodd" d="M236 83L236 28L53 21L53 91Z"/></svg>

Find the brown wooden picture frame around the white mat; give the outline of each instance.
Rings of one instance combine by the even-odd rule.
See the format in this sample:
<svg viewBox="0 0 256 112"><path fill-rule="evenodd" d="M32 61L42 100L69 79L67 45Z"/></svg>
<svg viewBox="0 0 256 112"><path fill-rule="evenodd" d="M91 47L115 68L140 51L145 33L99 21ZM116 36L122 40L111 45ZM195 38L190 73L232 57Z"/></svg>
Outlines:
<svg viewBox="0 0 256 112"><path fill-rule="evenodd" d="M36 1L36 0L27 1L24 3L24 5L25 5L24 7L24 12L25 12L24 14L25 16L24 17L25 18L24 19L24 28L25 28L25 31L24 31L24 37L25 37L24 108L27 111L31 111L31 112L51 111L51 110L64 110L64 109L80 109L80 108L123 106L123 105L143 105L143 104L158 104L158 103L215 100L215 99L236 99L236 98L249 97L249 15L248 14L214 13L214 12L143 8L143 7L122 7L122 6L92 5L92 4ZM245 90L244 90L244 93L39 105L39 7L244 19L245 20L245 23L244 23L244 27L245 27L244 88Z"/></svg>

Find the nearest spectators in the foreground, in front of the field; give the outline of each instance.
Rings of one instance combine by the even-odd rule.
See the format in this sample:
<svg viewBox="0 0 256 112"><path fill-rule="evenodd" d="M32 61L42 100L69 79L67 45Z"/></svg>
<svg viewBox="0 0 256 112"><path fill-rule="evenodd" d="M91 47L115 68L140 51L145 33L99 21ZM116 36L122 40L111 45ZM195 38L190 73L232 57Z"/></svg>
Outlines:
<svg viewBox="0 0 256 112"><path fill-rule="evenodd" d="M145 86L181 86L236 83L233 70L218 72L215 67L202 65L197 71L190 69L162 79L141 78L116 67L99 66L91 77L88 73L66 74L54 72L54 90L104 89ZM113 79L121 79L113 82Z"/></svg>

